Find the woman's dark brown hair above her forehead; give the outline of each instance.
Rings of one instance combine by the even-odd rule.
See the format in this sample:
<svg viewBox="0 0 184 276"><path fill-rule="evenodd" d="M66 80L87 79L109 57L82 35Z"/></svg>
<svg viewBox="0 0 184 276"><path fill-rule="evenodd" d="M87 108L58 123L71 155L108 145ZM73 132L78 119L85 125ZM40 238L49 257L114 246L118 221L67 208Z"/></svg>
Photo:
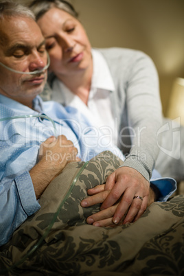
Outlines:
<svg viewBox="0 0 184 276"><path fill-rule="evenodd" d="M30 3L29 8L34 12L36 21L51 8L64 10L76 19L78 18L78 12L73 8L73 5L65 0L34 0Z"/></svg>

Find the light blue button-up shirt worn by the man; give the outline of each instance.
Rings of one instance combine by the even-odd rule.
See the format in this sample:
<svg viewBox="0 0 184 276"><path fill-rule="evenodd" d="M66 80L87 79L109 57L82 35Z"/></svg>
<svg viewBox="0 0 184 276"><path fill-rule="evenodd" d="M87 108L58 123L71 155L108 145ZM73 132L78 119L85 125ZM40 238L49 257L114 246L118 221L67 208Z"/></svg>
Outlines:
<svg viewBox="0 0 184 276"><path fill-rule="evenodd" d="M0 122L0 245L8 242L13 231L27 216L41 207L36 200L29 171L37 162L41 143L51 135L65 135L73 141L82 161L104 150L111 150L124 160L122 152L111 145L111 139L90 126L76 108L64 108L56 102L43 103L38 96L34 100L34 110L0 95L0 119L43 114L54 120L54 125L49 119L40 117ZM157 178L156 173L153 174L154 179ZM152 182L161 190L160 200L167 200L176 189L173 179Z"/></svg>

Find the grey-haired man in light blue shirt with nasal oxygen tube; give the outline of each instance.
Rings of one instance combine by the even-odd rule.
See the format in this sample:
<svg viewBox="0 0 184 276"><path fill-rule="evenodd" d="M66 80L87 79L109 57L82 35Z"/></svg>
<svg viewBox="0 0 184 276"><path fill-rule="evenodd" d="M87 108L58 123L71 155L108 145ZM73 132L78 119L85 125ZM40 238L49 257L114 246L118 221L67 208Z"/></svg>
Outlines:
<svg viewBox="0 0 184 276"><path fill-rule="evenodd" d="M16 3L1 2L0 36L2 245L27 216L40 208L41 194L67 163L87 161L104 150L111 150L121 159L124 157L116 147L108 145L106 137L95 133L76 109L41 101L38 94L45 86L49 60L45 40L30 10ZM176 189L172 179L156 181L156 184L162 187L160 200L167 200ZM103 189L104 185L97 187L97 192L91 192L96 194L84 200L83 205L102 202ZM148 193L137 187L126 208L128 211L131 206L126 222L136 218L139 210L141 216L147 204ZM100 226L111 225L109 208L91 216L89 223L95 225L98 220L98 225L102 221Z"/></svg>

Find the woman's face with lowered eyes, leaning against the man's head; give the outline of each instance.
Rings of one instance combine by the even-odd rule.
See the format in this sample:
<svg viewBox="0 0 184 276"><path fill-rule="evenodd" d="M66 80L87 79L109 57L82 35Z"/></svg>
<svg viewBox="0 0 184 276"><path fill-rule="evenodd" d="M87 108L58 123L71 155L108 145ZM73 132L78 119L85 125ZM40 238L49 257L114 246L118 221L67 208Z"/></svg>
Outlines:
<svg viewBox="0 0 184 276"><path fill-rule="evenodd" d="M58 78L72 76L92 65L91 45L81 23L67 12L51 8L38 19L51 59L50 71Z"/></svg>

